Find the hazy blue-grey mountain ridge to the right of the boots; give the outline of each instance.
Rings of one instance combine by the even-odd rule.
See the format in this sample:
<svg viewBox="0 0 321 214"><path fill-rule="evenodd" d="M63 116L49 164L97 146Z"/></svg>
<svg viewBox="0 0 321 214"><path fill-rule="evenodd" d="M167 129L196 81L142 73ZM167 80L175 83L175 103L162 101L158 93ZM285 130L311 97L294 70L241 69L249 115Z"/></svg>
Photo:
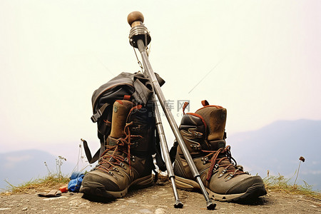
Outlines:
<svg viewBox="0 0 321 214"><path fill-rule="evenodd" d="M314 190L321 190L321 121L297 120L275 121L256 131L247 131L228 136L233 157L250 173L285 175L295 177L299 157L301 164L297 181L305 180Z"/></svg>

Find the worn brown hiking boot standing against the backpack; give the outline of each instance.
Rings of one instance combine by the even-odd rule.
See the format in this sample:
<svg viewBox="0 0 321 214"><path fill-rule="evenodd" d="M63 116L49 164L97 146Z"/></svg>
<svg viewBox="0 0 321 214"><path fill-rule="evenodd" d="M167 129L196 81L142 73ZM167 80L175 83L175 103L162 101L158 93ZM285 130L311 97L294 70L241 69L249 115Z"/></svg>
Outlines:
<svg viewBox="0 0 321 214"><path fill-rule="evenodd" d="M103 198L122 198L128 188L145 188L153 184L153 118L141 105L131 101L113 104L111 134L106 151L93 170L85 175L81 193Z"/></svg>

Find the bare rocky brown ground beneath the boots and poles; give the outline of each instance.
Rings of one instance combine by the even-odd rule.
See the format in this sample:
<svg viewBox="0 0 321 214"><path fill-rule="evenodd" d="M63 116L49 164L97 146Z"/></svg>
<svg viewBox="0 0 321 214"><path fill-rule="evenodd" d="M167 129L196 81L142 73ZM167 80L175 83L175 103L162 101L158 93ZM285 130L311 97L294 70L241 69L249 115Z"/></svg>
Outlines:
<svg viewBox="0 0 321 214"><path fill-rule="evenodd" d="M150 188L131 190L126 198L92 201L82 193L63 193L57 198L41 198L30 192L0 196L0 213L321 213L321 200L303 195L269 192L248 203L216 201L215 210L206 210L203 195L178 190L184 207L173 207L169 181L158 181Z"/></svg>

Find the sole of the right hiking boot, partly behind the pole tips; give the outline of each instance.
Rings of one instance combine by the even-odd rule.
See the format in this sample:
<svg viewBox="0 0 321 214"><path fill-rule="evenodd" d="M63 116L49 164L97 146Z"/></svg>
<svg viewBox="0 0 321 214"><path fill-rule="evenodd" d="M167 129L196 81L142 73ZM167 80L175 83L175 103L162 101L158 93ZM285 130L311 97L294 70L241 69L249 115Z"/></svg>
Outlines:
<svg viewBox="0 0 321 214"><path fill-rule="evenodd" d="M198 185L198 183L195 182L194 180L181 178L179 176L175 176L175 183L177 187L181 190L192 191L192 190L200 189L200 185ZM240 200L244 198L258 198L267 193L263 183L255 183L252 186L250 186L245 193L238 193L238 194L223 195L223 194L214 193L209 188L205 187L205 189L208 192L208 195L210 198L213 198L214 200L226 201L226 202L231 202L231 201Z"/></svg>

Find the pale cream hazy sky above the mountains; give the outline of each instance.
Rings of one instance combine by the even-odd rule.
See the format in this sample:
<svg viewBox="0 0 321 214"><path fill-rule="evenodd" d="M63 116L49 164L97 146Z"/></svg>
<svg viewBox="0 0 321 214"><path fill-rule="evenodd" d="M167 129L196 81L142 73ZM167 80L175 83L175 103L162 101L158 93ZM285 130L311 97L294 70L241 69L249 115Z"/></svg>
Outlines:
<svg viewBox="0 0 321 214"><path fill-rule="evenodd" d="M321 1L307 0L1 0L0 151L68 156L80 138L98 148L93 91L139 70L128 43L131 11L145 16L151 65L177 123L178 100L196 111L203 99L228 109L228 134L320 120L320 10Z"/></svg>

